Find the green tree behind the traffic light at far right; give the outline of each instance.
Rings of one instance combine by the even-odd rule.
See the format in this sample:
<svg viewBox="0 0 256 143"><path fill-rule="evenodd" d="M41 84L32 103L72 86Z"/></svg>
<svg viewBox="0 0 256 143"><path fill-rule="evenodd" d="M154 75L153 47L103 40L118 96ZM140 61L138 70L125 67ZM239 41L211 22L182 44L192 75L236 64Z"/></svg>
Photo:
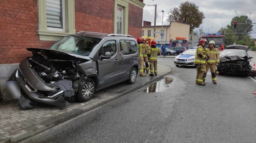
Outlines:
<svg viewBox="0 0 256 143"><path fill-rule="evenodd" d="M251 23L252 20L248 19L247 16L241 15L240 17L233 17L231 20L231 27L233 27L234 22L237 22L237 28L234 29L236 33L248 33L253 30L252 24L240 24L240 23ZM246 34L237 34L239 36L239 40L243 38Z"/></svg>

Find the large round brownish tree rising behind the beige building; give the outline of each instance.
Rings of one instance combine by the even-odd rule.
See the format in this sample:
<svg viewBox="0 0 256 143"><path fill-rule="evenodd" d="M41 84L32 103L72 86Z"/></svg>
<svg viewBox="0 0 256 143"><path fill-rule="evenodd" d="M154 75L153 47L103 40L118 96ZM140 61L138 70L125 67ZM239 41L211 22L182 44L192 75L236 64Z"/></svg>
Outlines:
<svg viewBox="0 0 256 143"><path fill-rule="evenodd" d="M204 20L204 13L199 11L198 6L195 3L189 1L180 3L180 6L174 7L169 11L167 22L178 22L182 20L182 23L189 24L189 33L192 29L198 28Z"/></svg>

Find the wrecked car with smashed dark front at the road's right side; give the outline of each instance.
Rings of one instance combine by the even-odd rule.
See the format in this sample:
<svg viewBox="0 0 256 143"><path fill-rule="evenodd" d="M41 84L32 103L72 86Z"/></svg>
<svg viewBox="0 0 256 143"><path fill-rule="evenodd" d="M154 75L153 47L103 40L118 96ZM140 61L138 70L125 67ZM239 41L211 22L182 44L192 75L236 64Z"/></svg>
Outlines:
<svg viewBox="0 0 256 143"><path fill-rule="evenodd" d="M253 57L248 55L246 46L231 45L227 50L223 50L219 57L219 73L252 76L255 72L251 63Z"/></svg>

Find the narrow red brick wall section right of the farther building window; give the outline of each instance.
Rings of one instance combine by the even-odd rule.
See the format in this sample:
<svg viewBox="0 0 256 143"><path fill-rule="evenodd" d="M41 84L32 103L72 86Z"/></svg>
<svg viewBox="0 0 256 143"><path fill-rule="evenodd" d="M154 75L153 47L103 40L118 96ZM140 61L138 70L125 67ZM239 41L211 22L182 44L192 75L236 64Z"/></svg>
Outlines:
<svg viewBox="0 0 256 143"><path fill-rule="evenodd" d="M135 39L141 36L143 9L129 3L128 34Z"/></svg>

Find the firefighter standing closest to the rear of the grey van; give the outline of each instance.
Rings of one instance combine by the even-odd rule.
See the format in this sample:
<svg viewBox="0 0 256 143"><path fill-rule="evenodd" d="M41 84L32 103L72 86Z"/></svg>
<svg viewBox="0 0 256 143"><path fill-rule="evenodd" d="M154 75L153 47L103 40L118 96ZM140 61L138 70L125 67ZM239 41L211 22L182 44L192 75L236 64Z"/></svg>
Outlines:
<svg viewBox="0 0 256 143"><path fill-rule="evenodd" d="M146 45L143 44L141 37L137 39L137 42L138 42L139 53L140 53L140 76L146 76L144 73L144 59L143 59L143 55L146 53L145 51Z"/></svg>

